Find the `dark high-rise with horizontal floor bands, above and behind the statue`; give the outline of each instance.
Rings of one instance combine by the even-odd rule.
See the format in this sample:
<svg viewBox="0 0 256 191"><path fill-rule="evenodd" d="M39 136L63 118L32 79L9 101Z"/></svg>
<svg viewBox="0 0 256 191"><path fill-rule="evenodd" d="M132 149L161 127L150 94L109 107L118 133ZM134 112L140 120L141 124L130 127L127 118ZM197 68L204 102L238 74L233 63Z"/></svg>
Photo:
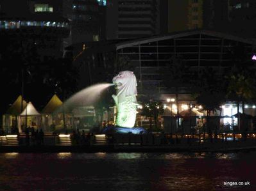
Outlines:
<svg viewBox="0 0 256 191"><path fill-rule="evenodd" d="M160 17L164 0L110 0L107 2L107 39L153 36L164 31Z"/></svg>

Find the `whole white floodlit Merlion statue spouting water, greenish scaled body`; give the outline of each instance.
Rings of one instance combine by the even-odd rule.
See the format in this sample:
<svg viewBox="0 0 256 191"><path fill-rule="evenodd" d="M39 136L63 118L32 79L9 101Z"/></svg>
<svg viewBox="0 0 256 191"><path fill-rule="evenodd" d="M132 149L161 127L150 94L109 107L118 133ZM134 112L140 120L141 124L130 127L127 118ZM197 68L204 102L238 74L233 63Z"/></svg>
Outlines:
<svg viewBox="0 0 256 191"><path fill-rule="evenodd" d="M137 113L137 80L133 72L119 72L113 78L116 95L112 95L117 107L117 126L132 128L135 124Z"/></svg>

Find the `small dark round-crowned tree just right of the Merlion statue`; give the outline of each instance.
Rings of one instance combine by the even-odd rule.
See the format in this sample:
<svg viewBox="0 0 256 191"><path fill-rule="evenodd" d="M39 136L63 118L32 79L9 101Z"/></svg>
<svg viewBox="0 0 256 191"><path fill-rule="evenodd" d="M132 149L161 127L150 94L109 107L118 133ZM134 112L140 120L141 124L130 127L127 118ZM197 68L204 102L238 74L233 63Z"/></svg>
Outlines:
<svg viewBox="0 0 256 191"><path fill-rule="evenodd" d="M150 100L149 103L142 105L141 115L146 116L150 120L150 130L152 130L152 118L155 121L155 128L157 128L158 116L164 113L162 102Z"/></svg>

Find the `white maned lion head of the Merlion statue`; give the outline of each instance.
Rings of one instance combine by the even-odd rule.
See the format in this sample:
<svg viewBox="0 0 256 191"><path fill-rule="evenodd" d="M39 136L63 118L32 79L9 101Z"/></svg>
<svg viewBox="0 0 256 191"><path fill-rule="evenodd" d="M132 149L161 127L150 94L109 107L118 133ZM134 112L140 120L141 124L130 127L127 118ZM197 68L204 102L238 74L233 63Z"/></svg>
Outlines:
<svg viewBox="0 0 256 191"><path fill-rule="evenodd" d="M133 72L123 71L119 72L113 78L117 96L133 96L137 95L137 80Z"/></svg>

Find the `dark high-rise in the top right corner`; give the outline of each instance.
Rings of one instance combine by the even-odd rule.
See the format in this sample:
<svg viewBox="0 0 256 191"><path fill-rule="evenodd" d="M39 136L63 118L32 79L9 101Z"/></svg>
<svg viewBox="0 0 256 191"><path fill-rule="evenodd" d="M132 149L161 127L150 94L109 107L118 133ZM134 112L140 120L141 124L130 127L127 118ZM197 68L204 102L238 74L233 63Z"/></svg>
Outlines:
<svg viewBox="0 0 256 191"><path fill-rule="evenodd" d="M203 27L243 38L255 38L255 5L253 0L204 0Z"/></svg>

